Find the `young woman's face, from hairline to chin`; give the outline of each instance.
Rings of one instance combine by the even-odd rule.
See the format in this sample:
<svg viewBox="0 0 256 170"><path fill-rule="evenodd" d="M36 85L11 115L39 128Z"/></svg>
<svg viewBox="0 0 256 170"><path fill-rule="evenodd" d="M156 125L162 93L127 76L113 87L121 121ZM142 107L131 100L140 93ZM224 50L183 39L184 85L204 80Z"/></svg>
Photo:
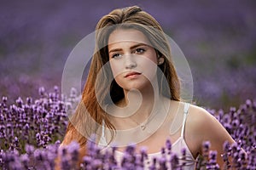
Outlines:
<svg viewBox="0 0 256 170"><path fill-rule="evenodd" d="M108 38L113 77L121 88L146 88L156 81L157 55L148 38L135 29L117 29Z"/></svg>

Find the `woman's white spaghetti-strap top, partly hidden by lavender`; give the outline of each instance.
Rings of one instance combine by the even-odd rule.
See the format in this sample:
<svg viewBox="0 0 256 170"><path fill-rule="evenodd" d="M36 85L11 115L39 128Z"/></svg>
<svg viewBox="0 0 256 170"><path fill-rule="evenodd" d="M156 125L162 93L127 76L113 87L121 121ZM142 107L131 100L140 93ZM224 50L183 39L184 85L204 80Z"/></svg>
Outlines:
<svg viewBox="0 0 256 170"><path fill-rule="evenodd" d="M195 163L196 160L193 157L191 151L189 150L188 145L186 144L186 141L184 139L184 128L185 128L185 122L186 122L186 118L188 116L188 112L189 112L189 104L185 103L184 104L184 110L183 110L183 125L182 125L182 130L181 130L181 135L180 137L172 144L172 153L176 153L177 157L179 159L179 163L180 164L184 164L185 166L183 166L183 170L194 170L195 169ZM104 122L102 125L102 136L101 139L99 141L100 145L107 145L107 140L105 138L105 126L104 126ZM108 148L108 147L107 147ZM107 149L105 148L105 149ZM182 160L182 153L181 150L185 149L186 155L185 155L185 160ZM120 165L122 158L124 156L124 153L116 150L115 151L115 159L118 162L118 164ZM156 153L151 153L148 154L148 159L144 161L144 169L149 169L149 167L151 166L151 164L153 163L153 159L154 158L160 158L162 157L162 153L161 152L156 152ZM167 150L166 150L166 158L169 159L170 155L167 154ZM170 165L167 165L168 169L172 169L170 167Z"/></svg>

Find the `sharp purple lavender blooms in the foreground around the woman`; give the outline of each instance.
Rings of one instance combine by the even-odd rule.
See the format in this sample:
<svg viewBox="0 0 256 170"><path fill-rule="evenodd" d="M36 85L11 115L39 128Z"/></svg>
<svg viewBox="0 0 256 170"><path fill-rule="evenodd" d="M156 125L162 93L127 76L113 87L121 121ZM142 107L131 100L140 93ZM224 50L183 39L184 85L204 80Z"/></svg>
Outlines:
<svg viewBox="0 0 256 170"><path fill-rule="evenodd" d="M87 144L88 155L80 165L79 144L71 143L59 147L67 127L67 112L79 99L75 90L70 96L62 98L60 89L53 92L38 89L39 99L17 99L8 105L3 97L0 103L0 167L3 169L55 169L55 160L59 156L61 169L143 169L147 150L135 153L135 145L127 146L121 165L114 156L114 146L107 153L93 140ZM236 144L224 144L225 169L256 168L256 101L247 100L239 108L230 107L230 111L208 110L228 130ZM198 159L197 169L219 169L214 150L209 150L210 143L202 144L203 154ZM247 156L241 150L246 151ZM185 159L186 153L181 150ZM228 157L232 157L230 162ZM232 167L230 167L232 165ZM172 144L166 141L162 149L162 158L155 159L150 169L183 169L176 153L172 153Z"/></svg>

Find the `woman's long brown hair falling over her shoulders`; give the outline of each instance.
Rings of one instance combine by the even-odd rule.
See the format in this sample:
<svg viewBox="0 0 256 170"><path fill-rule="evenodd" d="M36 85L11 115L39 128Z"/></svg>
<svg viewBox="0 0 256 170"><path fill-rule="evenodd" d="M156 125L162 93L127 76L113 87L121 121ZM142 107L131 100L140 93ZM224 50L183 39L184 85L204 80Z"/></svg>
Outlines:
<svg viewBox="0 0 256 170"><path fill-rule="evenodd" d="M163 72L158 75L160 94L172 100L180 100L180 82L172 63L169 43L160 24L137 6L114 9L103 16L96 26L95 54L91 61L82 100L67 126L63 144L76 140L81 147L84 147L91 134L101 133L100 127L103 121L112 130L113 137L115 128L109 121L104 108L102 109L102 105L107 105L110 99L113 103L123 99L124 91L114 81L110 66L105 66L109 60L108 37L115 29L131 28L142 31L148 37L156 53L165 59L162 65L158 65L160 71ZM163 77L166 78L167 85L162 82Z"/></svg>

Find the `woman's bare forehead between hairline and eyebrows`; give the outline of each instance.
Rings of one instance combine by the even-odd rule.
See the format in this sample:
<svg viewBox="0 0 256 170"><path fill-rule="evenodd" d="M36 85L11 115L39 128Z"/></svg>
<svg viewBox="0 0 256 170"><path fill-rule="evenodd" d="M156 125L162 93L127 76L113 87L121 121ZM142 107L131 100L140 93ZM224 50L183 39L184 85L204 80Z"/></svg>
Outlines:
<svg viewBox="0 0 256 170"><path fill-rule="evenodd" d="M135 29L117 29L113 31L108 37L108 44L118 42L137 42L151 46L148 37L146 37L142 31Z"/></svg>

